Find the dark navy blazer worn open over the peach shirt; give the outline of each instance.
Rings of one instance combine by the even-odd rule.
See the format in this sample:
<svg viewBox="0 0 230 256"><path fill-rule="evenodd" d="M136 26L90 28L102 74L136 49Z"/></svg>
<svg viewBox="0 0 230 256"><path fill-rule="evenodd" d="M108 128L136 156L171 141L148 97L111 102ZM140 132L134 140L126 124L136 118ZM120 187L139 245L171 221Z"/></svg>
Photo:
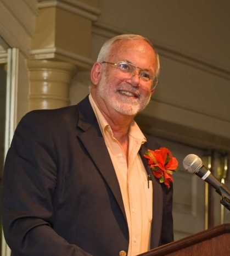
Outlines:
<svg viewBox="0 0 230 256"><path fill-rule="evenodd" d="M159 148L147 136L140 154ZM153 181L151 248L173 241L172 186ZM12 255L118 256L128 226L117 177L88 96L24 116L5 161L5 240Z"/></svg>

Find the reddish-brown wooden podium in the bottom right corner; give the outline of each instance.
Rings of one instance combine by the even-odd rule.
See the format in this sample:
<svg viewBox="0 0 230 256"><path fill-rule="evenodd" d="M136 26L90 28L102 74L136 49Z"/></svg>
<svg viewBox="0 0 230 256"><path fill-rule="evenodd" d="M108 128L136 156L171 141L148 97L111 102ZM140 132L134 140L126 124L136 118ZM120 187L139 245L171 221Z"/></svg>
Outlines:
<svg viewBox="0 0 230 256"><path fill-rule="evenodd" d="M230 255L230 224L222 224L138 256Z"/></svg>

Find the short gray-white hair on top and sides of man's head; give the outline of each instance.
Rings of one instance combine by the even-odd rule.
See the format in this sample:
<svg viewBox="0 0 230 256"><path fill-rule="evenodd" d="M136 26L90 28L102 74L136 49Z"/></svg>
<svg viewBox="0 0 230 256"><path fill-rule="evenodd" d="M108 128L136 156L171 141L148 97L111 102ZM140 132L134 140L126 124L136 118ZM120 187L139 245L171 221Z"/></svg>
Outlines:
<svg viewBox="0 0 230 256"><path fill-rule="evenodd" d="M153 48L153 51L156 54L156 72L155 72L155 75L158 76L159 72L160 72L159 55L156 52L156 50L154 49L154 46L153 46L152 42L150 42L148 40L148 38L140 36L140 35L124 34L124 35L119 35L119 36L115 36L115 37L110 38L108 41L106 41L103 44L102 48L100 49L100 52L98 54L97 62L102 63L102 62L106 61L106 58L110 54L111 47L113 46L113 44L115 42L117 42L117 41L127 41L127 40L144 40L145 42L147 42Z"/></svg>

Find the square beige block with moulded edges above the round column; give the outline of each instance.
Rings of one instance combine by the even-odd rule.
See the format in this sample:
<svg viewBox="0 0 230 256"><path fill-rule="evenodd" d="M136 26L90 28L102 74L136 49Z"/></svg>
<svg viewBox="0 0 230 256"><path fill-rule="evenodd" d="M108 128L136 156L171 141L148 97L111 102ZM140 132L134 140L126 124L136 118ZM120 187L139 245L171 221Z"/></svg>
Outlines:
<svg viewBox="0 0 230 256"><path fill-rule="evenodd" d="M36 36L31 40L31 59L69 62L89 70L92 21L100 10L98 0L39 0Z"/></svg>

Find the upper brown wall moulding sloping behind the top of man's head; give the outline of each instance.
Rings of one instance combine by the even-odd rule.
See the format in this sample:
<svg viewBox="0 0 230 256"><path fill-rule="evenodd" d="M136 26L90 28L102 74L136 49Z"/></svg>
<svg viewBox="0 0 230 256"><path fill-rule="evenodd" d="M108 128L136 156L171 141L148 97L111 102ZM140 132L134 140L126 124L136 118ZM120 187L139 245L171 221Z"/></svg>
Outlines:
<svg viewBox="0 0 230 256"><path fill-rule="evenodd" d="M130 31L121 30L114 26L99 21L93 23L92 32L93 34L103 36L106 38L111 38L113 36L120 34L132 33ZM230 80L230 70L227 70L226 68L223 68L218 64L213 64L210 63L208 60L200 59L199 57L194 57L194 55L179 51L179 49L172 49L169 46L165 46L161 42L155 42L154 46L156 51L158 51L158 53L161 56L176 60L179 63L184 63L186 65L192 66L193 68L197 68L207 73Z"/></svg>

